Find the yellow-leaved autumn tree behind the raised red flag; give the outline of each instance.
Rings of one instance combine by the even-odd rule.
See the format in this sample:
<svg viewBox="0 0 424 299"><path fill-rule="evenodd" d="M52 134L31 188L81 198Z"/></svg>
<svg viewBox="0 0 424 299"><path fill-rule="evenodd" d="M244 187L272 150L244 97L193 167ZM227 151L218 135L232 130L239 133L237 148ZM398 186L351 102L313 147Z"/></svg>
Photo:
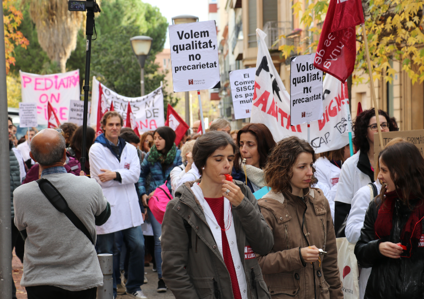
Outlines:
<svg viewBox="0 0 424 299"><path fill-rule="evenodd" d="M279 47L285 58L296 54L315 53L318 46L322 23L329 1L310 1L306 8L303 2L293 5L294 14L308 28L296 45L280 36L283 45ZM365 27L370 50L373 78L392 82L396 70L390 61L402 65L412 83L424 81L424 30L423 0L363 0ZM368 74L367 57L362 28L357 27L357 56L354 82L361 82L362 75Z"/></svg>

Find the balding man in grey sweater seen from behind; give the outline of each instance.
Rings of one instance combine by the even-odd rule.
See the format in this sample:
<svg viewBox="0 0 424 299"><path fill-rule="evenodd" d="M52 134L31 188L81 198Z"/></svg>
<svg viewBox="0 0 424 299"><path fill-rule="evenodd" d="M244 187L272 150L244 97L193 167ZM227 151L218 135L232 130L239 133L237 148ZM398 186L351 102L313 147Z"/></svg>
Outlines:
<svg viewBox="0 0 424 299"><path fill-rule="evenodd" d="M94 179L66 172L65 139L57 131L44 129L35 135L29 154L38 162L41 178L63 196L89 235L53 206L37 181L16 188L14 224L26 238L20 284L28 299L95 299L103 285L93 245L95 226L107 221L110 205Z"/></svg>

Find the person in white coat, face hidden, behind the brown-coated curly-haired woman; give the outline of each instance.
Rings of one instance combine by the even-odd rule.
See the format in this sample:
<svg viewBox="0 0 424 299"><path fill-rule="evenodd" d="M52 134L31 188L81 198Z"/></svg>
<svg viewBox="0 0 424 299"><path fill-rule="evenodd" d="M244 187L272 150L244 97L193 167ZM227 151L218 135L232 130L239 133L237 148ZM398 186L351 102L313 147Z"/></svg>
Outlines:
<svg viewBox="0 0 424 299"><path fill-rule="evenodd" d="M317 156L315 161L315 177L318 180L318 188L324 191L324 195L328 199L331 218L334 223L334 197L336 196L342 165L350 157L349 145L341 149L320 152ZM324 189L328 189L328 195L325 194L323 185L326 186Z"/></svg>

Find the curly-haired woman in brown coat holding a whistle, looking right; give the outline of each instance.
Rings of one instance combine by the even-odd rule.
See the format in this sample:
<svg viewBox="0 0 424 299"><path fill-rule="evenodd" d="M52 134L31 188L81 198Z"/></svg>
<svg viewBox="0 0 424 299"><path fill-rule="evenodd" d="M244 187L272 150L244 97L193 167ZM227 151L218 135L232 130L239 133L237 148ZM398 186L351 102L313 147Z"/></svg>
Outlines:
<svg viewBox="0 0 424 299"><path fill-rule="evenodd" d="M306 141L289 137L277 143L265 166L271 191L258 205L274 247L257 259L271 298L343 299L328 200L311 188L314 154Z"/></svg>

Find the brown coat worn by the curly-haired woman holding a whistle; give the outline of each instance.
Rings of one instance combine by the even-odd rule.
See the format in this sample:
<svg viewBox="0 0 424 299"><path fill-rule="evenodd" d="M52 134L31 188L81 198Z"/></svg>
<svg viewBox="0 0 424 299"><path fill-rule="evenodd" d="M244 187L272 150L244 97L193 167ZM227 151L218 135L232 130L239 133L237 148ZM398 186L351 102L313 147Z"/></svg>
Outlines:
<svg viewBox="0 0 424 299"><path fill-rule="evenodd" d="M320 189L304 191L306 203L301 197L273 191L258 201L274 236L271 252L256 255L263 279L271 298L343 299L336 236L328 200ZM305 220L301 232L303 215ZM320 255L321 263L304 265L299 247L312 245L328 254Z"/></svg>

